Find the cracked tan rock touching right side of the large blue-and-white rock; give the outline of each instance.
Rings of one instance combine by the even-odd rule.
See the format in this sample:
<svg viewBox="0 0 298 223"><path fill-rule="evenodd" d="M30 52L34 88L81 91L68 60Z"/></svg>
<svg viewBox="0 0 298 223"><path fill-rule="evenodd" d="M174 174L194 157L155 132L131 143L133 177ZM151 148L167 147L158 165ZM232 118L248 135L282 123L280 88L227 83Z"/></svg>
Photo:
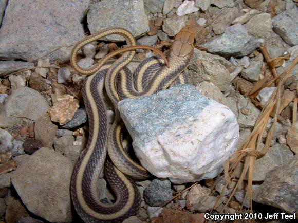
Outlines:
<svg viewBox="0 0 298 223"><path fill-rule="evenodd" d="M233 111L236 117L238 117L239 126L242 128L253 127L260 113L254 104L239 93L234 96L229 96L226 99L228 101L226 105ZM246 108L248 113L243 114L241 112L242 108Z"/></svg>

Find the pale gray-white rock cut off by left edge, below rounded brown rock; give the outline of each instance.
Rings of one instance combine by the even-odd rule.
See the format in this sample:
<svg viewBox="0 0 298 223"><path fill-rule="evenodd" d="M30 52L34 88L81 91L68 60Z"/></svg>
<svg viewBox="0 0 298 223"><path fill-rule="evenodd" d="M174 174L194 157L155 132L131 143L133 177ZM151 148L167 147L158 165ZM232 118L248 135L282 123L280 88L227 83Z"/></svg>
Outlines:
<svg viewBox="0 0 298 223"><path fill-rule="evenodd" d="M12 156L24 154L23 142L15 140L6 130L0 128L0 154L11 153Z"/></svg>

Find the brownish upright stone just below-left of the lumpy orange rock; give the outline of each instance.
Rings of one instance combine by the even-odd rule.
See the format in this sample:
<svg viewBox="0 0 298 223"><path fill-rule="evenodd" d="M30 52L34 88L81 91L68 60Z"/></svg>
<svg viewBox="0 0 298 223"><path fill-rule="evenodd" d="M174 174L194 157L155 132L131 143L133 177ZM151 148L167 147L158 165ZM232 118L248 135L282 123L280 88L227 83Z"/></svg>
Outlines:
<svg viewBox="0 0 298 223"><path fill-rule="evenodd" d="M57 128L58 126L51 122L49 115L45 114L35 121L35 139L40 140L43 146L51 148L55 141Z"/></svg>

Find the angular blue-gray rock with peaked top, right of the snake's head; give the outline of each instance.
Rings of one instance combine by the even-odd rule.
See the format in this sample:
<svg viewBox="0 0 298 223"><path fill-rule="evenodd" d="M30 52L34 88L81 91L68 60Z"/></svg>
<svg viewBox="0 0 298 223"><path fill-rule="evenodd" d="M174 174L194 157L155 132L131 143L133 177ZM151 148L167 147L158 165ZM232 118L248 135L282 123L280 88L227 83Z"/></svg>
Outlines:
<svg viewBox="0 0 298 223"><path fill-rule="evenodd" d="M253 52L260 44L241 24L235 24L225 30L218 38L204 43L202 47L209 52L229 56L243 56Z"/></svg>

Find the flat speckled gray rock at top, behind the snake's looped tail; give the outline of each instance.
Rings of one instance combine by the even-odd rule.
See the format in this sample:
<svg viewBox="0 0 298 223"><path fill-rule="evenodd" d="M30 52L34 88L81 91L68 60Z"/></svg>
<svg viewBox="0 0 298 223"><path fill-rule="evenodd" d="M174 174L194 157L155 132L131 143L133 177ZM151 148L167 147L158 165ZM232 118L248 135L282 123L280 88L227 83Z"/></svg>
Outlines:
<svg viewBox="0 0 298 223"><path fill-rule="evenodd" d="M110 27L122 27L136 38L149 31L143 0L118 1L103 0L90 6L87 16L91 34ZM108 35L105 40L122 41L119 35Z"/></svg>

